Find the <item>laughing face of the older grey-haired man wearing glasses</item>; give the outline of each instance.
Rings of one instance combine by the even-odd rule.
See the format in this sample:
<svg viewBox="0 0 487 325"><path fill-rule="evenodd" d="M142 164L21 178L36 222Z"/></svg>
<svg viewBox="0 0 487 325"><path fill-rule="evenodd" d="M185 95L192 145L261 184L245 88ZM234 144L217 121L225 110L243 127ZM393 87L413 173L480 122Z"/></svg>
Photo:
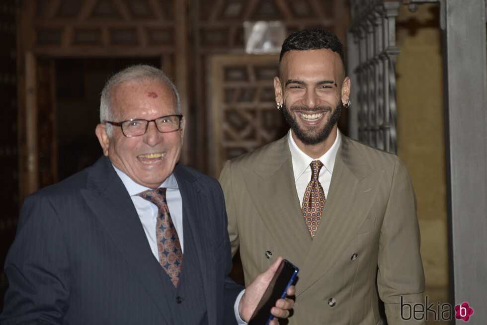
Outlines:
<svg viewBox="0 0 487 325"><path fill-rule="evenodd" d="M162 81L128 81L115 88L112 95L115 122L130 119L152 120L176 114L176 99L171 88ZM174 170L183 143L184 120L180 130L161 133L154 122L146 134L127 138L114 126L112 136L106 126L98 124L96 135L103 154L135 182L156 188Z"/></svg>

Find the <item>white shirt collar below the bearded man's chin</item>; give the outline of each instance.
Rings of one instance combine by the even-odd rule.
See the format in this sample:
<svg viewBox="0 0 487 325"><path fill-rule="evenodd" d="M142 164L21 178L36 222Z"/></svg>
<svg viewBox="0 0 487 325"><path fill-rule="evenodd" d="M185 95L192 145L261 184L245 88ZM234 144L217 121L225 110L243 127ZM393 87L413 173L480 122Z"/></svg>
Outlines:
<svg viewBox="0 0 487 325"><path fill-rule="evenodd" d="M306 168L308 168L310 163L314 160L321 161L326 170L328 170L330 174L333 174L336 153L338 152L340 142L341 135L340 132L337 131L335 142L333 143L331 148L327 152L325 152L325 155L323 155L322 157L318 159L313 159L298 148L298 145L296 145L296 142L294 142L294 139L292 137L292 130L289 130L288 144L289 150L291 151L291 159L293 162L294 181L296 181L303 174Z"/></svg>

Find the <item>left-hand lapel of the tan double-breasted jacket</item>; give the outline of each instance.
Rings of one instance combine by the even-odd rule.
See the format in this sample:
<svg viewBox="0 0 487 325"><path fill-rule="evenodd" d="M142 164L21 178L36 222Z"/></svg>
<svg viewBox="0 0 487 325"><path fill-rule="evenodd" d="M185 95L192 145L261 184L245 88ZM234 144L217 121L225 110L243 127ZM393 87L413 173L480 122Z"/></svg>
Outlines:
<svg viewBox="0 0 487 325"><path fill-rule="evenodd" d="M242 172L250 198L284 257L302 264L312 241L296 193L287 136L276 141L253 170Z"/></svg>

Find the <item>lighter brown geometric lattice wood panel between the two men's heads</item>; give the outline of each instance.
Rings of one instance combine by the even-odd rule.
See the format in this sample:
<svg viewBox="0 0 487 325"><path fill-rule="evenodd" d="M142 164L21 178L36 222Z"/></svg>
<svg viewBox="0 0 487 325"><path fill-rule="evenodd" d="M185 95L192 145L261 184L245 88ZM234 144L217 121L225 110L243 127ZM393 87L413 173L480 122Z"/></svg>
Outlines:
<svg viewBox="0 0 487 325"><path fill-rule="evenodd" d="M223 163L279 139L287 124L275 103L277 55L218 55L211 62L212 173Z"/></svg>

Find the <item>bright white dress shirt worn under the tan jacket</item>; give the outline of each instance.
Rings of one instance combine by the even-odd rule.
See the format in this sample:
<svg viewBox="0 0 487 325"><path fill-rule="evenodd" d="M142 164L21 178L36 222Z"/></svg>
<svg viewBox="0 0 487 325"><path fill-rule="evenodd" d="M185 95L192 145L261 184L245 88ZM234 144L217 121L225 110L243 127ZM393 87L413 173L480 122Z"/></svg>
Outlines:
<svg viewBox="0 0 487 325"><path fill-rule="evenodd" d="M341 136L340 132L336 132L336 139L331 148L320 158L313 159L306 155L298 148L296 142L292 137L292 130L288 133L289 150L291 151L291 159L293 162L294 181L296 183L296 191L298 193L299 204L303 204L303 197L306 192L306 187L311 180L311 166L310 163L314 160L319 160L323 163L323 167L318 175L318 180L322 184L325 198L328 197L328 190L330 188L331 174L333 173L333 166L335 165L336 153L340 146Z"/></svg>

